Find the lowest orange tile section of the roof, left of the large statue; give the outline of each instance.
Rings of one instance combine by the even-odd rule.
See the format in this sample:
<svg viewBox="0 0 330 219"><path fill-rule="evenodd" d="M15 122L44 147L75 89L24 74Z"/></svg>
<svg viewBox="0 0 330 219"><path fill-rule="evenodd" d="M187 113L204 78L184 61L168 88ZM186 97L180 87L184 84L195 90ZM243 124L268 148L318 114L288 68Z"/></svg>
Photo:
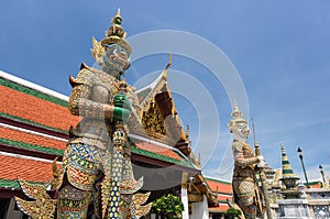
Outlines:
<svg viewBox="0 0 330 219"><path fill-rule="evenodd" d="M31 182L48 182L52 175L52 163L0 155L0 178Z"/></svg>

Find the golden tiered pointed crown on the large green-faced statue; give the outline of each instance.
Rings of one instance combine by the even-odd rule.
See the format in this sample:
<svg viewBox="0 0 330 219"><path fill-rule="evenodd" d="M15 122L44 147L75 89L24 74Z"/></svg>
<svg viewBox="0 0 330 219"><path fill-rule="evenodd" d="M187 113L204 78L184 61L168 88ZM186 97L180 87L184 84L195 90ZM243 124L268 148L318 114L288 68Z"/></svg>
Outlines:
<svg viewBox="0 0 330 219"><path fill-rule="evenodd" d="M121 26L122 18L120 14L120 9L118 9L117 14L111 19L111 26L109 26L108 31L106 31L106 37L101 41L101 44L111 45L114 43L121 44L124 48L132 53L131 45L124 40L127 33L123 31Z"/></svg>

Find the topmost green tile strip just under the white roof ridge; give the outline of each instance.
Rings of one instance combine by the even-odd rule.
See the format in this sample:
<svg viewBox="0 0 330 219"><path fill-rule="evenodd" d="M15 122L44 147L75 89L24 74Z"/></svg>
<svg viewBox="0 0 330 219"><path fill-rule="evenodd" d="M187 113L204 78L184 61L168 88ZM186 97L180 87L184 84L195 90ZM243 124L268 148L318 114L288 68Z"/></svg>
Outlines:
<svg viewBox="0 0 330 219"><path fill-rule="evenodd" d="M56 97L43 94L41 91L34 90L32 88L25 87L23 85L10 81L8 79L1 78L0 77L0 85L3 85L6 87L12 88L14 90L21 91L21 92L25 92L26 95L31 95L51 102L54 102L56 105L61 105L63 107L67 107L67 101L58 99Z"/></svg>

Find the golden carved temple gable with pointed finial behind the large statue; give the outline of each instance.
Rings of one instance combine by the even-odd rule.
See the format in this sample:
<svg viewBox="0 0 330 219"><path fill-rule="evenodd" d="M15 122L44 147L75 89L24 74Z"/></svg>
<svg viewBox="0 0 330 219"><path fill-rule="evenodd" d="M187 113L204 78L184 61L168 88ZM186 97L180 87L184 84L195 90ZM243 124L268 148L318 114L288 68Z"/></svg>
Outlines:
<svg viewBox="0 0 330 219"><path fill-rule="evenodd" d="M158 77L136 91L142 111L141 121L150 138L175 145L196 165L200 165L190 147L188 128L185 132L167 85L167 68L170 65L169 54L169 62Z"/></svg>

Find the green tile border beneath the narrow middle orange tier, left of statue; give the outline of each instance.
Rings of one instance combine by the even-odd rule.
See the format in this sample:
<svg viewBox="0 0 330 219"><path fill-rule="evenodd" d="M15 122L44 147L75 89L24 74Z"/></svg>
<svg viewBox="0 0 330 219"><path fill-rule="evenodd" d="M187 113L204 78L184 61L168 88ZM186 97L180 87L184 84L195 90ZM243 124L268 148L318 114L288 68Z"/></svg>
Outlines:
<svg viewBox="0 0 330 219"><path fill-rule="evenodd" d="M63 156L63 153L64 153L63 150L44 147L44 146L40 146L40 145L35 145L35 144L29 144L29 143L12 141L12 140L2 139L2 138L0 138L0 143L15 146L19 149L26 149L30 151L37 151L37 152L43 152L46 154L55 154L55 155L59 155L59 156Z"/></svg>

